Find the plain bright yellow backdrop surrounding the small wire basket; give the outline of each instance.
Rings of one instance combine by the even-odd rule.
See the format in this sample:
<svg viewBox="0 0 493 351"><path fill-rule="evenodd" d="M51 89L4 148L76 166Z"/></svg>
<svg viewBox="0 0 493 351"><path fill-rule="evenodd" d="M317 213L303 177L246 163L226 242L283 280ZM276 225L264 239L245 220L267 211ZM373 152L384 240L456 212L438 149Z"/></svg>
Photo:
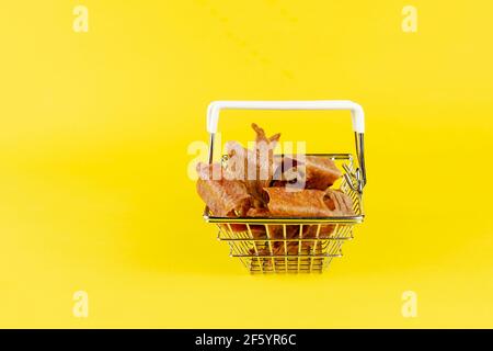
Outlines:
<svg viewBox="0 0 493 351"><path fill-rule="evenodd" d="M406 4L417 33L401 30ZM492 11L2 1L0 327L493 327ZM326 273L249 275L203 222L187 147L228 99L364 106L367 218ZM345 113L228 112L223 139L251 139L252 121L352 151Z"/></svg>

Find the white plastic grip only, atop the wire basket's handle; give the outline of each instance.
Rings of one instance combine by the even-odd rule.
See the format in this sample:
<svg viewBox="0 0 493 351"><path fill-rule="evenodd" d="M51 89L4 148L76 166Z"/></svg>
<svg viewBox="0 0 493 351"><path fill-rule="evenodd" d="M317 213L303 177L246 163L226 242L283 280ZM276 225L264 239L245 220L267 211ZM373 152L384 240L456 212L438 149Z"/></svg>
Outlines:
<svg viewBox="0 0 493 351"><path fill-rule="evenodd" d="M349 100L314 101L213 101L207 110L207 132L217 132L221 110L349 110L353 129L365 133L365 114L363 107Z"/></svg>

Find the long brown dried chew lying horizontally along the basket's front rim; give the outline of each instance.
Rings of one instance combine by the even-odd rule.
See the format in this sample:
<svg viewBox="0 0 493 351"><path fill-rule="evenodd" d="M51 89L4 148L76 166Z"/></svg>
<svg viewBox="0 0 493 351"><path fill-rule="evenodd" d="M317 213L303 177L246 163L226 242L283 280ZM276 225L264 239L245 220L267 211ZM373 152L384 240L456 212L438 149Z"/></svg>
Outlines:
<svg viewBox="0 0 493 351"><path fill-rule="evenodd" d="M286 188L265 188L268 194L268 211L273 216L283 217L328 217L332 212L323 199L321 190L289 191Z"/></svg>

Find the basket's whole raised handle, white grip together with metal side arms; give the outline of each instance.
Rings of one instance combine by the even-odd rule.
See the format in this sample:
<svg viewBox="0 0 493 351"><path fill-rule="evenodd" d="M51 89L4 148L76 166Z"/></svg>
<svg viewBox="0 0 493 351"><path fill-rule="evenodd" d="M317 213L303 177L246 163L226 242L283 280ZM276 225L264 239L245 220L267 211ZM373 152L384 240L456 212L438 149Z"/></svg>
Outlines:
<svg viewBox="0 0 493 351"><path fill-rule="evenodd" d="M217 133L219 112L221 110L348 110L353 118L356 152L359 168L353 173L356 184L348 184L359 192L366 184L364 133L365 114L363 107L349 100L314 100L314 101L213 101L207 109L207 132L210 134L209 162L213 162L214 138Z"/></svg>

